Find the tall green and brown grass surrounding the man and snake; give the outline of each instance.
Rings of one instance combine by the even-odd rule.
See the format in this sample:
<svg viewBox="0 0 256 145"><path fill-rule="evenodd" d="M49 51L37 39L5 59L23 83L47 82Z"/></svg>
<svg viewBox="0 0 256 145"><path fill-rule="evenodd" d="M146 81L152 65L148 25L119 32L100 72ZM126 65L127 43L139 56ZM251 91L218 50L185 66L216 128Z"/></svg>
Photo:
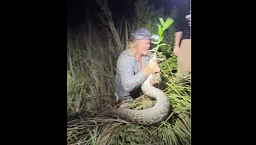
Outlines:
<svg viewBox="0 0 256 145"><path fill-rule="evenodd" d="M100 4L107 13L106 3ZM108 109L115 100L116 60L125 50L132 29L126 23L114 25L111 17L107 20L109 27L102 32L95 31L89 25L83 37L68 39L67 113L83 110L87 118L68 122L67 144L190 144L190 86L181 84L178 78L172 76L175 57L161 64L164 92L174 108L161 125L143 127L124 120L97 116L99 111ZM154 102L141 97L130 108L145 109Z"/></svg>

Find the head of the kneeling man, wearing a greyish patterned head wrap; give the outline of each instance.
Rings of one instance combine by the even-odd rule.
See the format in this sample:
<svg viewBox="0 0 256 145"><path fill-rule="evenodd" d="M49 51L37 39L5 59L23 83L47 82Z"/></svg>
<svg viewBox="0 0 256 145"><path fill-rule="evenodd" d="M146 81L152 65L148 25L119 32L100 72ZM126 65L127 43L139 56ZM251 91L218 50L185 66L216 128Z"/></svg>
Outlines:
<svg viewBox="0 0 256 145"><path fill-rule="evenodd" d="M133 51L136 51L140 55L147 55L147 51L150 48L150 38L150 31L144 28L137 29L135 32L132 32L131 38L129 39L130 48L133 47Z"/></svg>

